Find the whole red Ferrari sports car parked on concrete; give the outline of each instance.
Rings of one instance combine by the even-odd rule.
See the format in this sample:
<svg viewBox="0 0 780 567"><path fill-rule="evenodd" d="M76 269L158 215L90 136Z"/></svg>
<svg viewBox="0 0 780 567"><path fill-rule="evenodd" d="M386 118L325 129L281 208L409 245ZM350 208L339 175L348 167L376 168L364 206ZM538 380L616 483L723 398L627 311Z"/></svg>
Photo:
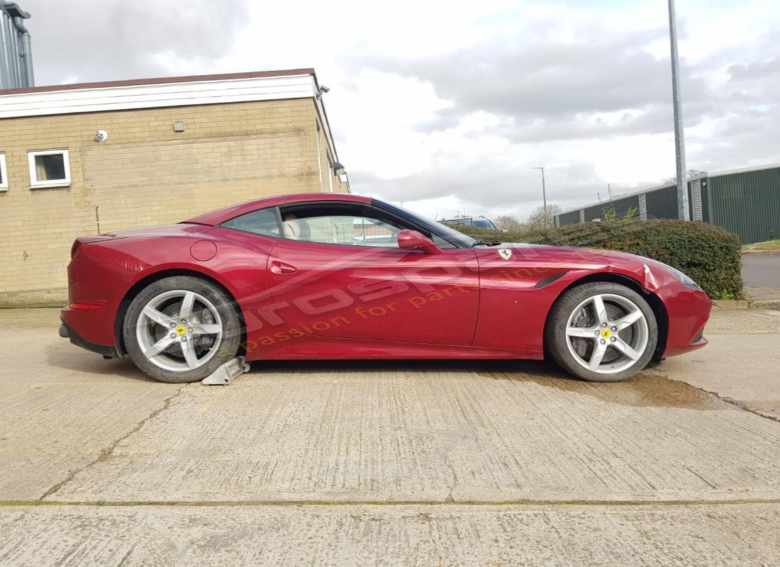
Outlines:
<svg viewBox="0 0 780 567"><path fill-rule="evenodd" d="M271 197L178 225L82 236L60 335L151 377L236 355L543 359L619 381L707 344L682 272L606 250L488 243L347 194Z"/></svg>

